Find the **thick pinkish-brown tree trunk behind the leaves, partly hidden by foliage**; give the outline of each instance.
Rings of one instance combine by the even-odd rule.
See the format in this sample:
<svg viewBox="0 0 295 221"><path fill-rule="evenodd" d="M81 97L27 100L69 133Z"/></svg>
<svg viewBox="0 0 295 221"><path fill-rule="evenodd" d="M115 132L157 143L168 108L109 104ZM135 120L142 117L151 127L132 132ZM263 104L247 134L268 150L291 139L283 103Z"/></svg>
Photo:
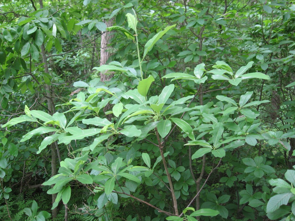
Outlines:
<svg viewBox="0 0 295 221"><path fill-rule="evenodd" d="M111 27L114 22L114 17L106 22L106 27ZM100 43L100 65L105 65L106 61L109 59L110 55L108 52L108 45L110 44L110 39L112 38L113 32L104 32L101 35L101 43ZM108 72L108 70L100 73L100 80L102 82L106 80L110 80L114 74L108 74L105 73Z"/></svg>

